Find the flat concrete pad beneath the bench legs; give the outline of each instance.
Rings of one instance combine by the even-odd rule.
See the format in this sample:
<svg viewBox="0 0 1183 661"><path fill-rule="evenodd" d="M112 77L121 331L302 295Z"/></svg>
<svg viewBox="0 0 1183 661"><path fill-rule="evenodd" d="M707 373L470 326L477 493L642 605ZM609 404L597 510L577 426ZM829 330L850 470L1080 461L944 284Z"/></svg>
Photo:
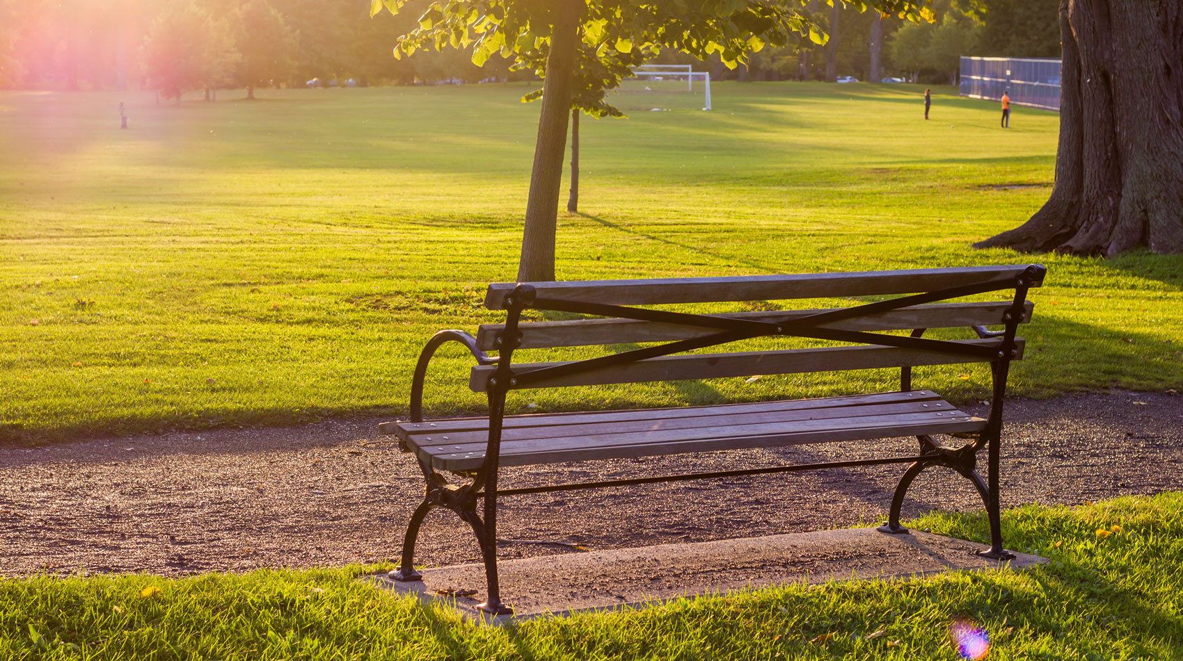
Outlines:
<svg viewBox="0 0 1183 661"><path fill-rule="evenodd" d="M886 534L861 527L564 553L500 560L497 566L502 598L522 618L799 581L905 578L998 566L1027 569L1048 562L1019 552L1015 559L1003 563L974 555L988 547L919 531ZM485 601L484 565L421 572L421 582L399 583L384 573L363 578L381 588L418 594L425 603L453 604L465 617L480 615L472 607Z"/></svg>

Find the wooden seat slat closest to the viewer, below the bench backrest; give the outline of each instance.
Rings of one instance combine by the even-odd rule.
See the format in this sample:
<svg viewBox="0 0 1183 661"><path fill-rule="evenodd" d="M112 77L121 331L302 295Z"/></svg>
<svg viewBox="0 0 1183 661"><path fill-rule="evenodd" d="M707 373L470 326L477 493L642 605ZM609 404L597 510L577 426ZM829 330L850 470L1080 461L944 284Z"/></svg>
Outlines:
<svg viewBox="0 0 1183 661"><path fill-rule="evenodd" d="M868 419L835 419L829 421L807 421L793 425L765 426L767 433L742 435L702 435L666 433L662 440L634 438L633 442L616 439L613 445L589 445L589 438L562 440L550 439L545 442L518 441L502 446L499 462L502 466L526 466L534 464L551 464L556 461L587 461L593 459L622 459L631 456L651 456L659 454L679 454L686 452L715 452L724 449L742 449L757 447L775 447L803 443L834 441L854 441L894 436L913 436L918 434L940 434L953 432L978 432L985 420L968 415L944 417L933 414L907 414L893 416L872 416ZM748 432L751 432L749 429ZM623 436L623 435L622 435ZM532 443L532 445L531 445ZM431 462L444 471L474 471L484 460L484 448L471 452L448 452L445 448L432 447L420 451L431 458Z"/></svg>

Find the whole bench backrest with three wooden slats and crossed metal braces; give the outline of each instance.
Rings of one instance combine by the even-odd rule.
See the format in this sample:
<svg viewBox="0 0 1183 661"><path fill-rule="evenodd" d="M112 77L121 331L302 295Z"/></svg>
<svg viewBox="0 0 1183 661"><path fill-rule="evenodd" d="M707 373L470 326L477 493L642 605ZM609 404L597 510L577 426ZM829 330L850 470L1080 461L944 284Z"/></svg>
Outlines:
<svg viewBox="0 0 1183 661"><path fill-rule="evenodd" d="M515 363L517 387L550 388L642 381L678 381L945 363L1017 359L1022 338L1015 326L1030 320L1028 287L1040 286L1039 265L922 268L859 273L588 280L490 285L491 310L536 307L595 315L562 322L485 324L481 350L547 349L606 344L668 343L613 356L562 363ZM939 303L951 298L1014 290L1007 300ZM781 302L909 294L855 306L685 315L638 307L717 302ZM515 297L517 300L515 300ZM1003 325L1002 336L933 341L873 331ZM984 329L981 329L984 331ZM723 351L672 355L761 336L796 336L849 342L851 346ZM1004 355L1000 355L1000 352ZM496 365L472 370L470 387L484 391ZM529 372L538 374L526 376Z"/></svg>

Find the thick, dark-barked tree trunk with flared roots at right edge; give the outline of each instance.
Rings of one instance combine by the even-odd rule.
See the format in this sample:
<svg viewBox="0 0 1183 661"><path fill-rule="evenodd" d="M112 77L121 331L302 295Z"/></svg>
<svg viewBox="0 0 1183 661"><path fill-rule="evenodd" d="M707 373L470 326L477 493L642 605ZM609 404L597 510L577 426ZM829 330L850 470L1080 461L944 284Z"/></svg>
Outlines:
<svg viewBox="0 0 1183 661"><path fill-rule="evenodd" d="M1060 35L1055 187L1026 223L976 246L1183 252L1183 5L1060 0Z"/></svg>

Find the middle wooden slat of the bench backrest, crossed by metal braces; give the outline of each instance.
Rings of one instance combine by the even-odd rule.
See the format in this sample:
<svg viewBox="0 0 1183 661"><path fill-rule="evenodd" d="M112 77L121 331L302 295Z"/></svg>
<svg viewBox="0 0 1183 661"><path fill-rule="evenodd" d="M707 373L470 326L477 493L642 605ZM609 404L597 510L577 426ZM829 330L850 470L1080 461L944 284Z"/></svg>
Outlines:
<svg viewBox="0 0 1183 661"><path fill-rule="evenodd" d="M913 305L890 312L843 319L823 328L854 331L885 331L910 329L958 328L997 325L1010 307L1009 300L980 303L938 303ZM1033 304L1023 305L1021 323L1030 322ZM774 310L769 312L732 312L712 315L733 319L763 322L768 319L799 319L828 310ZM505 324L484 324L477 330L477 348L493 351L497 336ZM633 344L642 342L672 342L687 337L702 337L718 329L661 324L638 319L577 319L570 322L535 322L518 326L522 332L522 349L550 349L555 346L589 346L599 344Z"/></svg>

